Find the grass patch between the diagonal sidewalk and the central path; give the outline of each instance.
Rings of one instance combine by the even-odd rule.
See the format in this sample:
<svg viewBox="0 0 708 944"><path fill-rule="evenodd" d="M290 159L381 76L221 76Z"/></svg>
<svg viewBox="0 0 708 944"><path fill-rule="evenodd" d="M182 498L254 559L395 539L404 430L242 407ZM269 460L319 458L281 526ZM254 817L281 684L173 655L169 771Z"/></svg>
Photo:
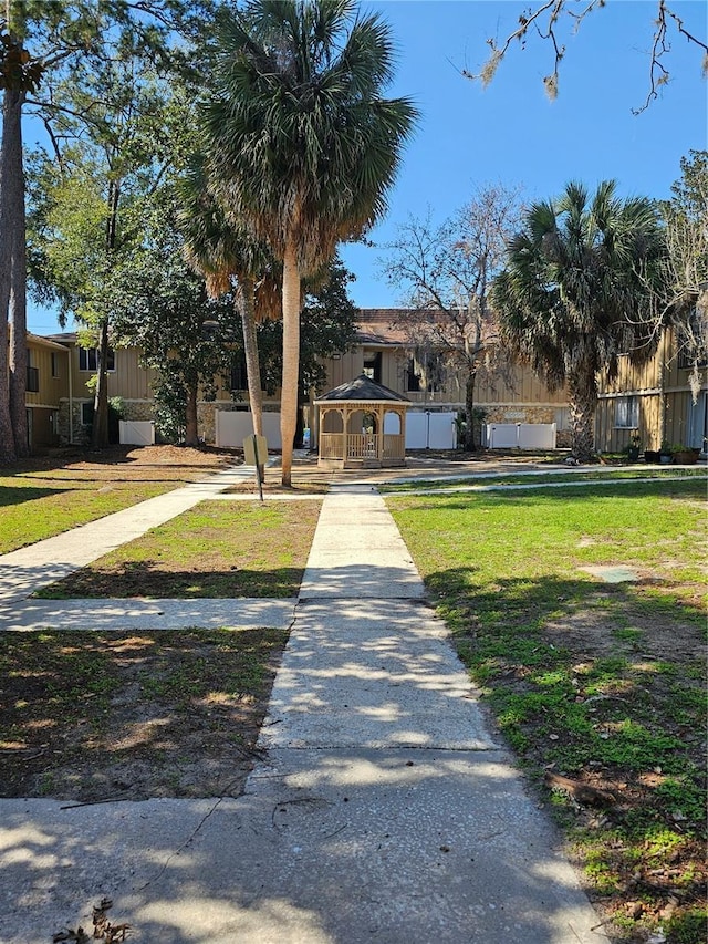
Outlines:
<svg viewBox="0 0 708 944"><path fill-rule="evenodd" d="M202 501L38 597L294 597L320 501Z"/></svg>

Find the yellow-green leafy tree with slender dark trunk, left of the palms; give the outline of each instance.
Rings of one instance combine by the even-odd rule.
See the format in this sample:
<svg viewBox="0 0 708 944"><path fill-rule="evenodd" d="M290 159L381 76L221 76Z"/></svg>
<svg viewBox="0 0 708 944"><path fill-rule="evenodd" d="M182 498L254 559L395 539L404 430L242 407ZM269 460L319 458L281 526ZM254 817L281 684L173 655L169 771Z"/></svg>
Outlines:
<svg viewBox="0 0 708 944"><path fill-rule="evenodd" d="M33 279L42 299L59 305L60 320L71 314L95 332L93 445L100 447L108 442L111 273L143 238L144 201L180 163L189 114L180 90L146 65L126 38L113 59L93 69L77 65L60 92L71 114L53 117L55 153L44 155L39 174L46 180L46 165L55 167ZM100 114L86 121L98 95Z"/></svg>

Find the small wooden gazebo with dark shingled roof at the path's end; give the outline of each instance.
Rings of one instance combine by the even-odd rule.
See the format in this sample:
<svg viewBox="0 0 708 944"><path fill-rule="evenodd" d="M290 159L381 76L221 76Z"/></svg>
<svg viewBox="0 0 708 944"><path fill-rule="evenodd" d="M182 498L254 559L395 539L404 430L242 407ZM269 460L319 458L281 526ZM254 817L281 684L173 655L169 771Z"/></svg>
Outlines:
<svg viewBox="0 0 708 944"><path fill-rule="evenodd" d="M361 374L323 394L314 405L321 468L405 466L407 397Z"/></svg>

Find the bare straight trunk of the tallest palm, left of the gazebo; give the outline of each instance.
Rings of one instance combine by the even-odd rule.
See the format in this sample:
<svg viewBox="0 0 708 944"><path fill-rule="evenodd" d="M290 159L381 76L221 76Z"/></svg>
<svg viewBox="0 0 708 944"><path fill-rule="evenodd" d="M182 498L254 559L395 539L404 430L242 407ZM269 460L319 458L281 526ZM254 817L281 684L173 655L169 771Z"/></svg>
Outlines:
<svg viewBox="0 0 708 944"><path fill-rule="evenodd" d="M290 487L292 449L298 425L298 377L300 373L300 267L294 245L283 256L283 375L280 393L282 484Z"/></svg>

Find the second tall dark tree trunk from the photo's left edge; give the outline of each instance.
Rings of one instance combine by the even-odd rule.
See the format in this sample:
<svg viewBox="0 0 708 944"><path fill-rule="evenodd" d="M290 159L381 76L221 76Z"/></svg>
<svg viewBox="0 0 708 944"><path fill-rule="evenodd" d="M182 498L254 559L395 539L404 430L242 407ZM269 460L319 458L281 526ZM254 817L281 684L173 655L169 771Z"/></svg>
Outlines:
<svg viewBox="0 0 708 944"><path fill-rule="evenodd" d="M17 94L17 93L15 93ZM22 101L13 107L11 147L17 154L11 157L17 180L10 191L12 200L12 268L10 273L9 321L10 335L10 419L18 458L30 455L27 425L27 236L24 215L24 168L22 166Z"/></svg>

